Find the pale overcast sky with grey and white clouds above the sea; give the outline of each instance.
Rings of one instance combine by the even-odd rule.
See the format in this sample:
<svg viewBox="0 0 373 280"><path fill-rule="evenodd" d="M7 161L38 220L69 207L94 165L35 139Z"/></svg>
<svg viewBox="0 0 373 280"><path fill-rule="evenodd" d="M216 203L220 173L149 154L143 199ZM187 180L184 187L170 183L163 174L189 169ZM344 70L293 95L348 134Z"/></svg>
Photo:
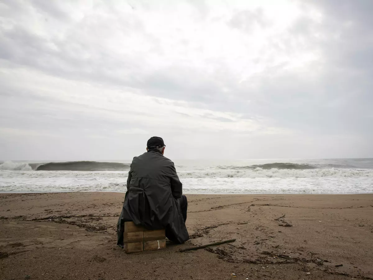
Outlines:
<svg viewBox="0 0 373 280"><path fill-rule="evenodd" d="M0 160L373 157L372 12L2 0Z"/></svg>

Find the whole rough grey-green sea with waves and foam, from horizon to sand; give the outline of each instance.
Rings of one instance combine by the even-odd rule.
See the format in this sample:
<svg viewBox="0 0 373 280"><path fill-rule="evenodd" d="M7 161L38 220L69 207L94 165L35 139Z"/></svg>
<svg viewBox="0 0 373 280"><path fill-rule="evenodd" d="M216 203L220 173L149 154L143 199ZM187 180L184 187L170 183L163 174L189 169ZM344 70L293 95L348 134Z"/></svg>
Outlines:
<svg viewBox="0 0 373 280"><path fill-rule="evenodd" d="M373 193L373 159L174 162L189 194ZM130 163L0 162L0 192L125 192Z"/></svg>

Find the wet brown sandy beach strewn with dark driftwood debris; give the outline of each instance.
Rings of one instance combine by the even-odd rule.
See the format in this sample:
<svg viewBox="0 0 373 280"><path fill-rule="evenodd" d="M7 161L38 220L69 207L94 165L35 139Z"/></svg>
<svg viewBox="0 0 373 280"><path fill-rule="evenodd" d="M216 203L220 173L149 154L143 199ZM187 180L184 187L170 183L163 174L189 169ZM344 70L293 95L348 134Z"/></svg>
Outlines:
<svg viewBox="0 0 373 280"><path fill-rule="evenodd" d="M188 195L192 239L131 255L116 246L123 197L0 194L0 279L373 279L372 194Z"/></svg>

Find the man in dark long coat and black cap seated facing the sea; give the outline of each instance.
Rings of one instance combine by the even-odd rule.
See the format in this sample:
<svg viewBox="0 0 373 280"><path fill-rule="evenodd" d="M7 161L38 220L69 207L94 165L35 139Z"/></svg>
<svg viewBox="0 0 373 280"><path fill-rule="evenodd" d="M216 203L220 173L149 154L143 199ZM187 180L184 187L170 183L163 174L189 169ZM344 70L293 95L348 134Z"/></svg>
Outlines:
<svg viewBox="0 0 373 280"><path fill-rule="evenodd" d="M148 230L166 229L166 237L176 243L189 239L185 227L188 202L175 165L163 156L163 139L151 137L147 152L133 159L127 192L117 223L117 245L123 248L124 223L133 221Z"/></svg>

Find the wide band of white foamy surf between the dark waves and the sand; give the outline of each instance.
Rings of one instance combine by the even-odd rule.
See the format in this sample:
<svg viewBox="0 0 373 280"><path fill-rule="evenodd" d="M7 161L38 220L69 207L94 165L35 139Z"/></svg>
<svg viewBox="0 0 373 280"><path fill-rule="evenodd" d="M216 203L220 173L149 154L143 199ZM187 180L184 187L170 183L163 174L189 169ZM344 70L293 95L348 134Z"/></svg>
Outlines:
<svg viewBox="0 0 373 280"><path fill-rule="evenodd" d="M128 171L0 171L3 192L125 192ZM180 171L184 193L372 193L372 169Z"/></svg>

